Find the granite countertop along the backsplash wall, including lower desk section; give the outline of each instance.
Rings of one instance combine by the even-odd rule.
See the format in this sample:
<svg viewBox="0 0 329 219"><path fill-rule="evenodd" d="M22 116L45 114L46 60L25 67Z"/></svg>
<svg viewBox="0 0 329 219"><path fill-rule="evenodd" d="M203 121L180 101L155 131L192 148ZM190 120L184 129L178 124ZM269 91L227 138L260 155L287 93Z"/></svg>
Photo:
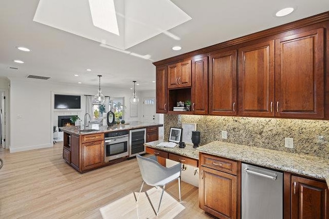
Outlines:
<svg viewBox="0 0 329 219"><path fill-rule="evenodd" d="M328 159L250 147L241 144L226 143L222 141L213 141L196 149L194 149L191 144L187 144L185 148L178 148L178 145L175 148L156 147L160 142L163 142L163 140L148 142L145 143L145 145L150 148L156 148L161 151L194 159L199 159L198 152L203 152L233 160L239 160L253 165L326 180L329 187Z"/></svg>

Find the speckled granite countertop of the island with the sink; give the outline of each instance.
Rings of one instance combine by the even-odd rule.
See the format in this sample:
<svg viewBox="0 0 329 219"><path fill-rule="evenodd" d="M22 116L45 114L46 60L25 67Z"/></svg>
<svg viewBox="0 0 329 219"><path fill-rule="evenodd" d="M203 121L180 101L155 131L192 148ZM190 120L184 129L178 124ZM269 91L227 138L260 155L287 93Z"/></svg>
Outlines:
<svg viewBox="0 0 329 219"><path fill-rule="evenodd" d="M65 127L59 127L61 131L75 134L75 135L89 135L89 134L96 134L96 133L105 133L105 132L113 132L113 131L121 131L121 130L132 130L132 129L142 129L144 127L150 127L150 126L158 126L161 127L163 124L159 123L145 123L145 122L129 122L126 124L119 124L119 125L113 125L113 126L98 126L97 131L91 131L91 132L80 132L80 126L65 126ZM92 126L89 125L88 129L92 129Z"/></svg>

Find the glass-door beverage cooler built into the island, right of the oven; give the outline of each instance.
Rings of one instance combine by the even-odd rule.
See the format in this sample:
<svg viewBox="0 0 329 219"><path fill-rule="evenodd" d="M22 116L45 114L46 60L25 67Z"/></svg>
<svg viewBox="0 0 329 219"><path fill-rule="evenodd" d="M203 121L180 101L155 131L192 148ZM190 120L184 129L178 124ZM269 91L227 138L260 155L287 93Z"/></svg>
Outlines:
<svg viewBox="0 0 329 219"><path fill-rule="evenodd" d="M145 154L146 129L130 130L129 136L129 157Z"/></svg>

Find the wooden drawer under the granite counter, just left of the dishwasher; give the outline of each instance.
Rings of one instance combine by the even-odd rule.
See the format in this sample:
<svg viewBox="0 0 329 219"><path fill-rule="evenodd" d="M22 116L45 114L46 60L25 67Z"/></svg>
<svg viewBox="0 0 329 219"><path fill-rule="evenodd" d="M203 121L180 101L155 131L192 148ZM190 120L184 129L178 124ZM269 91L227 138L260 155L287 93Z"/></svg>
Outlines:
<svg viewBox="0 0 329 219"><path fill-rule="evenodd" d="M220 158L216 156L211 156L208 154L200 154L200 165L204 167L209 167L215 170L223 171L236 175L237 173L237 162L233 160L228 160L225 158Z"/></svg>

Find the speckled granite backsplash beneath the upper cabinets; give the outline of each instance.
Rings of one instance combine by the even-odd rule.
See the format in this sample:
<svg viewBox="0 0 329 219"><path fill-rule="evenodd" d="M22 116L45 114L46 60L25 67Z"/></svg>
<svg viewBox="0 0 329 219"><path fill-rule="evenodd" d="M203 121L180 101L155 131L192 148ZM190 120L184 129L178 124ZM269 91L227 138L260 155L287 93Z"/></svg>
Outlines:
<svg viewBox="0 0 329 219"><path fill-rule="evenodd" d="M170 127L196 123L200 145L223 141L277 151L329 158L329 121L251 117L196 116L165 114L165 139ZM227 132L222 139L221 131ZM284 138L294 138L294 148L284 147Z"/></svg>

